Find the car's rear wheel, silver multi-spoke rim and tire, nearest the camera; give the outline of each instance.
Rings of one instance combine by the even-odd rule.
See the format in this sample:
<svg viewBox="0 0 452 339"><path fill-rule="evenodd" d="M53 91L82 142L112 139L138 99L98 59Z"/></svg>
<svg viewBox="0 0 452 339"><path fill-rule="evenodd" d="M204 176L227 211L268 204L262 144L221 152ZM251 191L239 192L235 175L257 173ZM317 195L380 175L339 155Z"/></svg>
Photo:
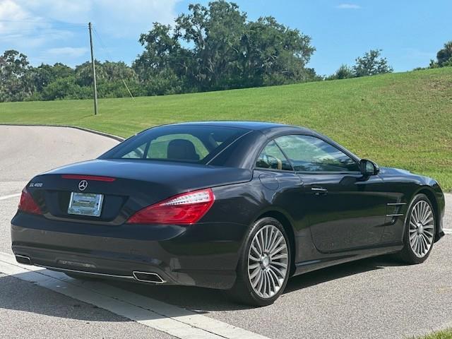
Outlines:
<svg viewBox="0 0 452 339"><path fill-rule="evenodd" d="M246 237L229 295L244 304L266 306L283 293L290 273L290 245L274 218L256 221Z"/></svg>

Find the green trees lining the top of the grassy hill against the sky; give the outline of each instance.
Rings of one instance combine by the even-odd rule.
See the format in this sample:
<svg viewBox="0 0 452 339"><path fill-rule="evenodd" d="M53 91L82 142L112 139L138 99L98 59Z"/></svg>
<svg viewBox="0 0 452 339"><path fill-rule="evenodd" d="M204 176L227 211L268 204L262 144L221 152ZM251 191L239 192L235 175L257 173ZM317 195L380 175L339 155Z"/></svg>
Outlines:
<svg viewBox="0 0 452 339"><path fill-rule="evenodd" d="M194 93L232 88L323 81L392 72L381 50L372 49L354 66L319 76L307 66L311 37L273 17L249 20L237 4L223 0L189 5L174 27L154 23L140 36L143 52L131 66L95 61L99 97ZM452 42L430 67L452 65ZM30 66L15 50L0 56L0 102L86 99L93 95L90 62ZM127 88L126 88L127 86ZM128 90L129 89L129 90Z"/></svg>

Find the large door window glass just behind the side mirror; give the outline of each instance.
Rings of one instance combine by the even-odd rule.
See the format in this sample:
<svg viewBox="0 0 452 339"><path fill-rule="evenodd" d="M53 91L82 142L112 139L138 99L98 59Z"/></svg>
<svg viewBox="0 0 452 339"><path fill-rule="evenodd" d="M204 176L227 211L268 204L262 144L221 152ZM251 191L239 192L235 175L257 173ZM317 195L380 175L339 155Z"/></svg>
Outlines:
<svg viewBox="0 0 452 339"><path fill-rule="evenodd" d="M314 136L282 136L276 143L299 172L359 172L355 160Z"/></svg>

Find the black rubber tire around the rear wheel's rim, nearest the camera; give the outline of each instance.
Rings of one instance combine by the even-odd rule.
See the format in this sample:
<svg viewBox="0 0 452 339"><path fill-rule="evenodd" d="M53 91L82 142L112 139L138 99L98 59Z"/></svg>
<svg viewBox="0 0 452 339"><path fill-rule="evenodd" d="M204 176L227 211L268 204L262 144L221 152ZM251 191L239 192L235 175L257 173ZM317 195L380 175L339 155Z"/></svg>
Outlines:
<svg viewBox="0 0 452 339"><path fill-rule="evenodd" d="M249 278L249 253L251 248L251 242L253 242L254 237L259 232L259 230L263 229L264 227L267 227L268 225L273 225L280 230L280 232L283 234L283 237L285 239L285 244L287 245L287 268L285 268L285 277L284 280L281 277L281 280L283 280L283 283L280 284L280 288L278 292L275 293L272 297L260 297L251 286L250 278ZM285 232L285 229L281 223L274 219L274 218L262 218L260 220L257 220L254 225L249 230L248 234L246 235L246 240L244 242L244 246L242 246L242 251L240 253L239 257L239 263L237 265L237 279L235 280L234 286L231 290L227 290L227 295L234 299L234 301L239 302L240 304L247 304L251 306L256 307L262 307L266 305L273 304L278 297L283 293L285 289L285 285L287 284L287 280L290 276L290 264L292 260L290 251L290 242L289 238L287 237L287 233ZM286 260L286 259L284 259Z"/></svg>

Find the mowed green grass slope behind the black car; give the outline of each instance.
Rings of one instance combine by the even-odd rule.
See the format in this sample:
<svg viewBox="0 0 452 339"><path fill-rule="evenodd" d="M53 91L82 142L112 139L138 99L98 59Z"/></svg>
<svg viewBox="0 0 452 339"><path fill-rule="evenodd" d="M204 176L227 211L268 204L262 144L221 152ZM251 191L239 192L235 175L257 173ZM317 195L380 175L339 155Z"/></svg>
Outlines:
<svg viewBox="0 0 452 339"><path fill-rule="evenodd" d="M452 67L188 95L0 104L0 124L64 124L130 136L157 124L260 120L307 126L359 157L452 191Z"/></svg>

